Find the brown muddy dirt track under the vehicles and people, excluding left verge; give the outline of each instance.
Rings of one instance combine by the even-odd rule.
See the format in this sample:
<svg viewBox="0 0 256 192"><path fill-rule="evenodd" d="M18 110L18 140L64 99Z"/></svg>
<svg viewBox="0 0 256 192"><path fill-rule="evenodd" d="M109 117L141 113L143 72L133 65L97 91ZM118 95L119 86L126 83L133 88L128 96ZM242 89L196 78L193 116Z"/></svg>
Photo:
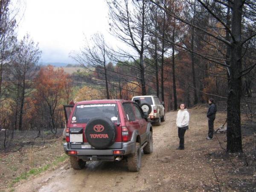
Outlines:
<svg viewBox="0 0 256 192"><path fill-rule="evenodd" d="M190 123L189 131L185 134L185 150L175 150L178 145L175 127L177 112L166 113L166 122L153 127L154 150L152 154L143 154L140 172L128 172L125 161L90 162L82 170L73 170L67 163L53 172L47 172L20 184L15 191L162 192L236 189L231 184L235 183L234 180L239 183L237 180L241 175L236 177L234 174L238 166L233 168L230 159L221 156L222 149L216 138L205 140L206 110L189 110ZM221 125L224 121L225 115L218 113L215 126ZM219 135L218 139L223 144L225 135ZM239 164L239 160L236 161L236 157L233 157L232 163ZM231 168L227 169L227 166ZM250 174L247 176L248 180L252 177ZM243 189L241 187L239 189Z"/></svg>

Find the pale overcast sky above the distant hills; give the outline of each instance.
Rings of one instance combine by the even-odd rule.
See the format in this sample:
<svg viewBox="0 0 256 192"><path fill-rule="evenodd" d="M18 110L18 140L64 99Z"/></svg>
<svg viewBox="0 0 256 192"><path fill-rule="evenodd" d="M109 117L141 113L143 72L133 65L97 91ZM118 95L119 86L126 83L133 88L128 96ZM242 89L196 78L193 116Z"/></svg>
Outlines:
<svg viewBox="0 0 256 192"><path fill-rule="evenodd" d="M26 9L18 37L29 33L43 52L40 62L75 63L69 53L79 50L84 35L108 35L108 6L105 0L24 0Z"/></svg>

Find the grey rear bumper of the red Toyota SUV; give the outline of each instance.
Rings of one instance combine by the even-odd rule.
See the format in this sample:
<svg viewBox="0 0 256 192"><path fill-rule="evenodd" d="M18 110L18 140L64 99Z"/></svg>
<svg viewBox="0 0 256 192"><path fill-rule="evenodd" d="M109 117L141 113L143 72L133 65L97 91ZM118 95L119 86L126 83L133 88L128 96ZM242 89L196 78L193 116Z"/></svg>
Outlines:
<svg viewBox="0 0 256 192"><path fill-rule="evenodd" d="M133 154L135 152L135 143L133 141L123 142L121 148L96 149L96 148L70 148L70 143L64 143L64 152L76 151L77 154L72 155L84 160L114 160L116 156ZM124 154L113 154L115 150L122 150Z"/></svg>

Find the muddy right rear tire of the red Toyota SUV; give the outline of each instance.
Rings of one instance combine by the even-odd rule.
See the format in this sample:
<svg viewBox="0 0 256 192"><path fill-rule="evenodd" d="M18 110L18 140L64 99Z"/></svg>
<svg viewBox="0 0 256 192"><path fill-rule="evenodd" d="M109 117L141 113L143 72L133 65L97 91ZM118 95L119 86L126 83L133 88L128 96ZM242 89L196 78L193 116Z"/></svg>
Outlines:
<svg viewBox="0 0 256 192"><path fill-rule="evenodd" d="M136 143L135 152L127 158L128 170L138 172L141 167L141 148L140 143Z"/></svg>

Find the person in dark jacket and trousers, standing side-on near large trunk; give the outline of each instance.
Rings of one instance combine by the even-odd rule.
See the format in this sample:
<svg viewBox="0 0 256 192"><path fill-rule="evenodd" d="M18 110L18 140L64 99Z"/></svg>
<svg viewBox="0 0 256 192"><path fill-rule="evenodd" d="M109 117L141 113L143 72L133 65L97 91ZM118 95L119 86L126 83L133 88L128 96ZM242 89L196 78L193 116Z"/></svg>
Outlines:
<svg viewBox="0 0 256 192"><path fill-rule="evenodd" d="M214 120L215 120L215 114L217 112L217 106L214 103L214 100L212 98L209 99L209 109L207 112L207 117L208 117L208 137L206 138L207 140L211 140L213 137L213 127L214 127Z"/></svg>

